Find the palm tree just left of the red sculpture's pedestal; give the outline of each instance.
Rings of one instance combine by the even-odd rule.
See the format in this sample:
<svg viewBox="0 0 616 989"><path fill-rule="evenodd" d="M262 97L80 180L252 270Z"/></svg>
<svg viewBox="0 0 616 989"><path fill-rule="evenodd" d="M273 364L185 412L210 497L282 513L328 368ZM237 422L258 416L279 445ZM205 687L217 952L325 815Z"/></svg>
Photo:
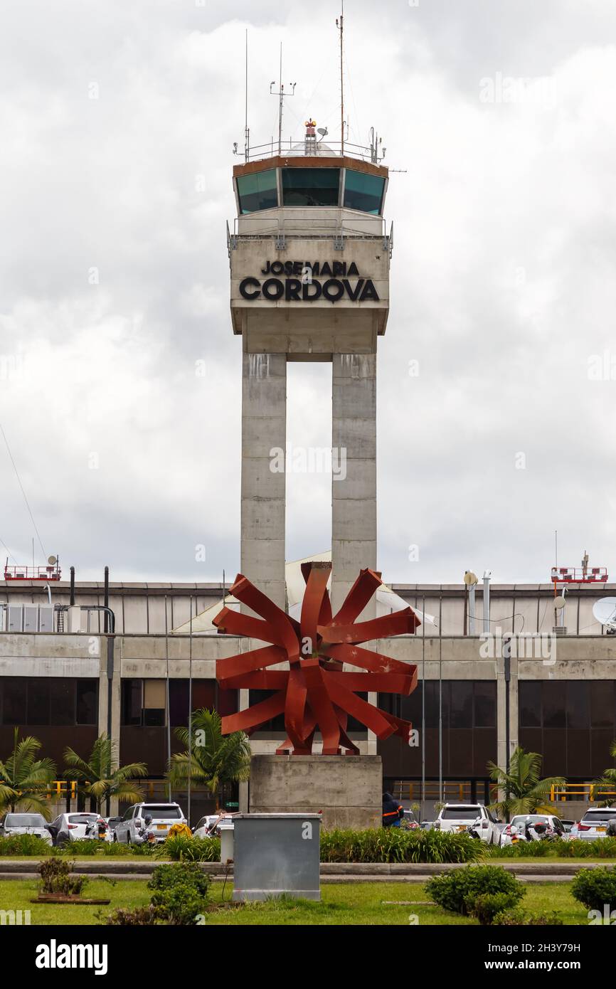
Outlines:
<svg viewBox="0 0 616 989"><path fill-rule="evenodd" d="M167 773L172 786L202 784L220 797L226 783L241 782L250 775L250 743L243 732L222 735L220 714L202 707L191 718L188 728L176 728L175 734L186 752L171 757Z"/></svg>

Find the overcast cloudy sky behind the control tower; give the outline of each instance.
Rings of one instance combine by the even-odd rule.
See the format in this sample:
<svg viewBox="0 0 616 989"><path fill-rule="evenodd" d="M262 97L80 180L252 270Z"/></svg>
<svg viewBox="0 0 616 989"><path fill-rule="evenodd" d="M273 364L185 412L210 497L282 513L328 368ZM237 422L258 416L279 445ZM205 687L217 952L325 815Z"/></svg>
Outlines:
<svg viewBox="0 0 616 989"><path fill-rule="evenodd" d="M224 224L245 29L252 142L276 130L281 41L284 135L311 114L339 139L338 13L3 3L0 421L44 553L78 579L239 568ZM385 578L545 582L557 528L561 565L586 549L616 578L616 5L346 0L345 38L351 138L374 125L405 170L379 345ZM330 376L291 366L294 445L327 443ZM26 563L1 438L0 477L0 538ZM288 558L328 548L329 502L327 478L290 479Z"/></svg>

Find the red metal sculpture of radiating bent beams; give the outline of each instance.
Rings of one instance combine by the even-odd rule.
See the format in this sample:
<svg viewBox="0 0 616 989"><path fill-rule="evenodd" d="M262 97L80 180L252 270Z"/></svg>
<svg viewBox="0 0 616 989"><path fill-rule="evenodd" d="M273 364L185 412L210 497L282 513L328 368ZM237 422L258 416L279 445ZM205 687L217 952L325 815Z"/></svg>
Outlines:
<svg viewBox="0 0 616 989"><path fill-rule="evenodd" d="M372 570L362 570L336 615L332 617L327 581L329 563L302 565L306 593L300 621L281 610L242 574L230 587L242 604L260 618L223 607L214 619L220 633L247 636L269 643L238 656L217 661L217 678L225 688L275 691L271 697L237 714L222 718L222 732L250 735L260 725L284 712L288 738L277 750L283 755L308 756L318 728L322 754L337 756L341 749L359 752L346 734L348 716L366 725L378 738L399 735L408 741L411 725L358 696L363 691L409 694L417 683L417 668L359 643L414 632L420 624L411 608L370 621L356 622L382 581ZM269 670L288 663L289 669ZM343 664L366 673L349 673Z"/></svg>

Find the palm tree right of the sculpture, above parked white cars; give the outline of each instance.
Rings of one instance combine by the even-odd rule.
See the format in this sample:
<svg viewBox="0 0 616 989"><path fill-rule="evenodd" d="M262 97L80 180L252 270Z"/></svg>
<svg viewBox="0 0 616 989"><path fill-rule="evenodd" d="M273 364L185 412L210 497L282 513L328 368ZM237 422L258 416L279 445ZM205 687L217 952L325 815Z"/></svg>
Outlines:
<svg viewBox="0 0 616 989"><path fill-rule="evenodd" d="M490 810L510 821L516 814L551 814L554 807L548 800L553 786L563 786L562 776L540 779L543 756L537 752L524 752L519 746L511 756L509 771L494 763L488 763L490 779L504 791L504 798L490 804Z"/></svg>

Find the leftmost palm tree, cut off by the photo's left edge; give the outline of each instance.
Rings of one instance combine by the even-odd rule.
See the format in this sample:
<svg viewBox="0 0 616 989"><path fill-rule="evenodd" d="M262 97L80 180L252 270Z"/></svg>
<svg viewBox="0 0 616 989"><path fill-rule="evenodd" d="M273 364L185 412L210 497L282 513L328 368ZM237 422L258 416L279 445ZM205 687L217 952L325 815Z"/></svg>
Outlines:
<svg viewBox="0 0 616 989"><path fill-rule="evenodd" d="M18 742L15 729L13 753L0 762L0 811L37 811L49 820L51 814L45 791L55 776L55 764L50 759L37 759L41 748L32 736Z"/></svg>

